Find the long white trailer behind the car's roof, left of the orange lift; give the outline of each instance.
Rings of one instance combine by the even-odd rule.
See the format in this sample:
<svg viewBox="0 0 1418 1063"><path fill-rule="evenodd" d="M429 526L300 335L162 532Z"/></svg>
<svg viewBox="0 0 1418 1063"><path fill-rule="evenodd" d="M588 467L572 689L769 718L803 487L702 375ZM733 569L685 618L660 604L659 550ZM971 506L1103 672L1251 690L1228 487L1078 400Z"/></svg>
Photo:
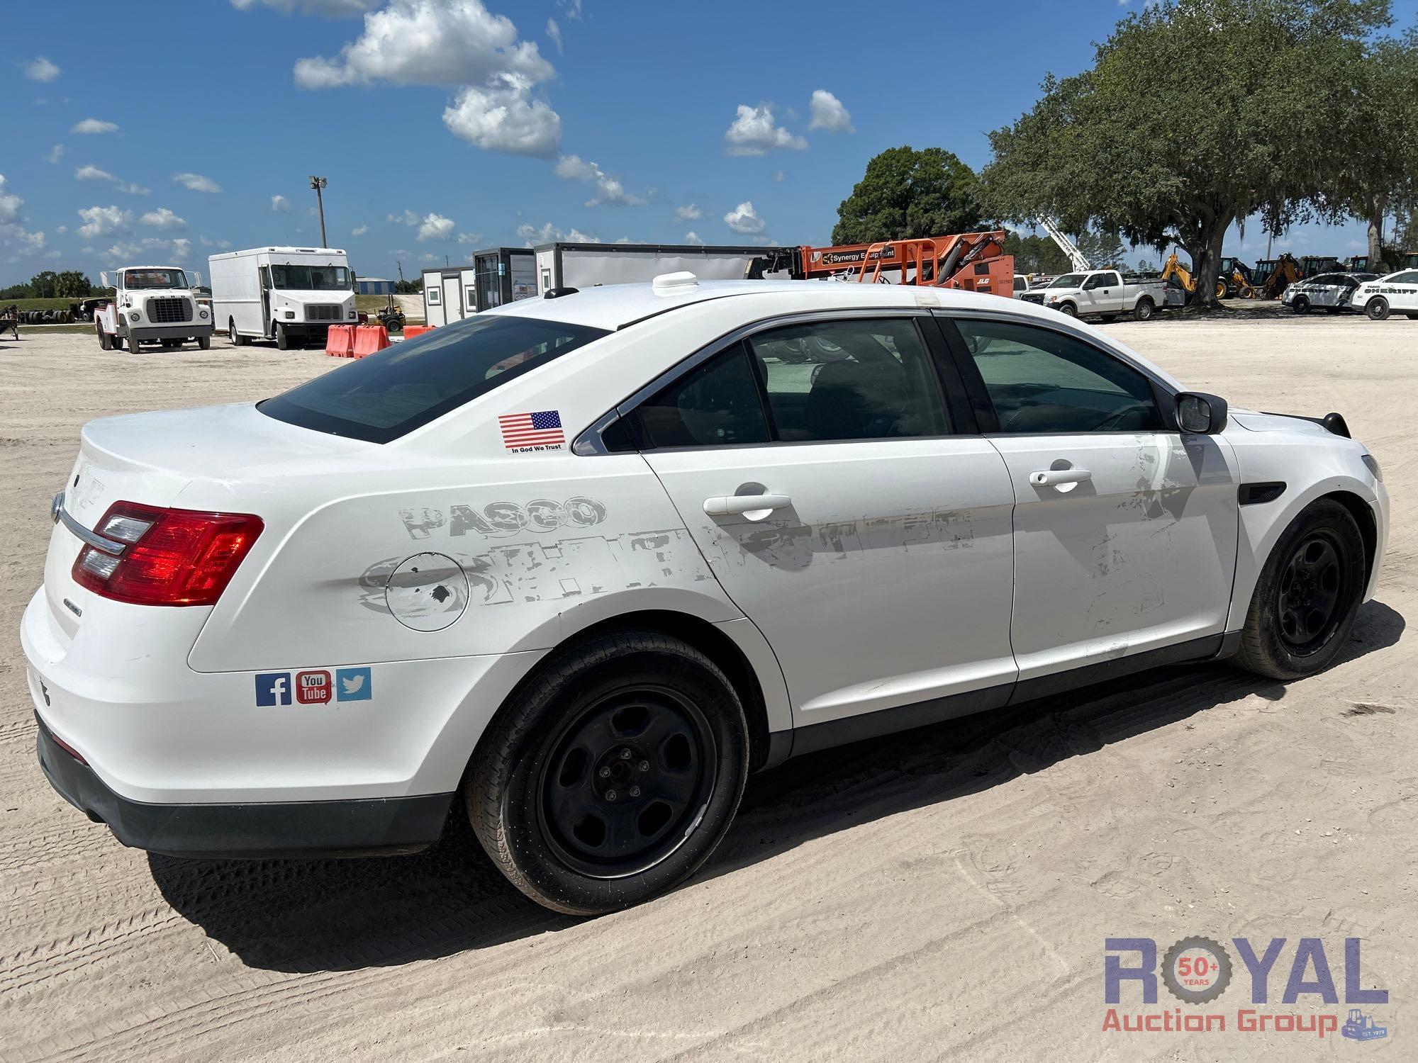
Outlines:
<svg viewBox="0 0 1418 1063"><path fill-rule="evenodd" d="M780 248L696 244L542 244L536 248L537 295L552 288L593 288L651 281L688 269L702 281L742 281L754 258ZM769 274L788 279L788 274Z"/></svg>

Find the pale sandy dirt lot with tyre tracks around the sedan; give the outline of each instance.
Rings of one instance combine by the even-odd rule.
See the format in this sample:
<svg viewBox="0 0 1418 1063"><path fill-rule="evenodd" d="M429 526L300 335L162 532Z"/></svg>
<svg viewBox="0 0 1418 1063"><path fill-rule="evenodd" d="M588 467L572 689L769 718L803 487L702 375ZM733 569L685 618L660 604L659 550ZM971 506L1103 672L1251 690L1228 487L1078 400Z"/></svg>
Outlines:
<svg viewBox="0 0 1418 1063"><path fill-rule="evenodd" d="M1418 1037L1418 323L1156 320L1110 330L1235 405L1340 410L1394 524L1341 663L1280 685L1146 675L793 761L750 784L688 886L553 916L455 831L359 862L182 862L119 846L43 780L17 628L86 420L258 398L329 367L271 347L101 353L0 340L0 1057L1302 1059ZM1102 1029L1103 941L1343 938L1388 1028ZM1234 950L1232 950L1234 951ZM1132 957L1129 957L1132 962ZM1123 1011L1139 1009L1136 996ZM1151 1012L1171 1011L1161 991ZM1414 1022L1409 1028L1407 1023ZM1409 1043L1408 1049L1402 1045ZM1409 1056L1412 1057L1412 1056Z"/></svg>

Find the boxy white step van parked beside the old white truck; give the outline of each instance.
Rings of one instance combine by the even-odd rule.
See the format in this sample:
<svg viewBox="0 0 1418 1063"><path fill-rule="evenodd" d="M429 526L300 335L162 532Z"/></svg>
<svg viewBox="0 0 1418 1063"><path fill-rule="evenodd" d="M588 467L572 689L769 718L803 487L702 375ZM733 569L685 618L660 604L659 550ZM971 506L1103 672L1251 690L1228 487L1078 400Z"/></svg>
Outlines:
<svg viewBox="0 0 1418 1063"><path fill-rule="evenodd" d="M275 340L281 350L319 342L332 325L353 325L354 275L337 248L262 247L207 259L211 308L235 346Z"/></svg>

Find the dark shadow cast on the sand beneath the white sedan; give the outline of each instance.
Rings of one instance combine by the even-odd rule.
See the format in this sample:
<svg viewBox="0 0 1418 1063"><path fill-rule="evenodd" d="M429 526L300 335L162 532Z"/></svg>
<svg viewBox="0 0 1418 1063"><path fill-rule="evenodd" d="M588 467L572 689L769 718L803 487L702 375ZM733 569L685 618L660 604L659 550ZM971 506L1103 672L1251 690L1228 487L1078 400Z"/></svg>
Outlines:
<svg viewBox="0 0 1418 1063"><path fill-rule="evenodd" d="M1370 602L1340 660L1394 645L1404 618ZM749 781L739 818L696 880L804 842L1042 771L1069 757L1283 683L1225 663L1171 668L994 713L811 754ZM1344 706L1349 707L1349 706ZM149 856L163 897L250 967L349 971L484 948L560 930L482 853L455 805L418 856L367 860L179 860Z"/></svg>

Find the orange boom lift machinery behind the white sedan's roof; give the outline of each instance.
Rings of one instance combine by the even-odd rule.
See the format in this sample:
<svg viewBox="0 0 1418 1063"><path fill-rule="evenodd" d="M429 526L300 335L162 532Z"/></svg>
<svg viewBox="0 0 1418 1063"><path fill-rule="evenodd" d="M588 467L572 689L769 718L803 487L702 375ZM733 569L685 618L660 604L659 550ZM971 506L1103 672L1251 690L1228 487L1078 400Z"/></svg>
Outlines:
<svg viewBox="0 0 1418 1063"><path fill-rule="evenodd" d="M1004 230L842 247L776 248L749 265L749 279L787 271L794 281L841 279L960 288L1012 298L1014 255Z"/></svg>

